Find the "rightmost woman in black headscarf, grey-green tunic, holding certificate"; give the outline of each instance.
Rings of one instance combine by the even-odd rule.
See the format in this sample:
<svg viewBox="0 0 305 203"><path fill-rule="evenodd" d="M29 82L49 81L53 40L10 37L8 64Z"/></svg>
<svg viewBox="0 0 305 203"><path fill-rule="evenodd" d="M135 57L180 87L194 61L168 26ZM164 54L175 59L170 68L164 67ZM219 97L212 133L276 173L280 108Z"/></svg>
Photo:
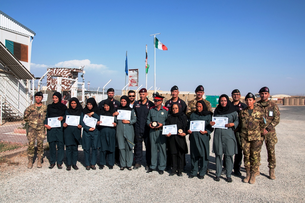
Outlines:
<svg viewBox="0 0 305 203"><path fill-rule="evenodd" d="M233 170L233 155L237 154L237 142L234 135L235 127L238 126L238 115L233 103L229 100L228 95L222 94L219 97L218 105L210 125L215 127L213 138L213 150L216 159L216 178L220 181L222 169L222 154L226 162L227 182L231 183L231 173ZM217 126L217 127L216 127Z"/></svg>

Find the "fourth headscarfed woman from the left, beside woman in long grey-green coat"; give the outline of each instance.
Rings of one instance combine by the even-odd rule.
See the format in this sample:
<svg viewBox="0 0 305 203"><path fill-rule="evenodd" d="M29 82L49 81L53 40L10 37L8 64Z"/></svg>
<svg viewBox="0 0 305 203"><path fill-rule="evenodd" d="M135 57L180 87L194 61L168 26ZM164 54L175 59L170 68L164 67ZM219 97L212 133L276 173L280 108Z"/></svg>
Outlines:
<svg viewBox="0 0 305 203"><path fill-rule="evenodd" d="M112 102L107 99L104 102L103 109L101 110L100 116L113 116L114 109ZM99 137L101 142L101 148L99 148L99 169L103 169L106 165L106 157L108 157L109 169L113 169L115 162L115 144L116 144L116 129L117 118L114 117L113 126L103 126L100 125L102 121L98 121Z"/></svg>

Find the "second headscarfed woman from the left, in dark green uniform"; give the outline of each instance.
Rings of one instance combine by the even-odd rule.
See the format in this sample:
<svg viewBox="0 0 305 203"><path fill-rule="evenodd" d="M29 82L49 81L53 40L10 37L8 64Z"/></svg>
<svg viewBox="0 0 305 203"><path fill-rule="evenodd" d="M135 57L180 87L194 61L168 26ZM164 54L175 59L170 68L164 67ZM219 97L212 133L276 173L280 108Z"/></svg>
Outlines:
<svg viewBox="0 0 305 203"><path fill-rule="evenodd" d="M69 101L69 109L66 110L66 119L69 116L81 116L82 110L83 107L78 99L76 97L72 97ZM82 126L80 124L78 124L78 126L68 125L66 123L63 124L63 138L66 145L67 171L71 170L71 162L72 168L74 168L74 170L78 169L76 163L78 158L78 145L82 144L81 128Z"/></svg>

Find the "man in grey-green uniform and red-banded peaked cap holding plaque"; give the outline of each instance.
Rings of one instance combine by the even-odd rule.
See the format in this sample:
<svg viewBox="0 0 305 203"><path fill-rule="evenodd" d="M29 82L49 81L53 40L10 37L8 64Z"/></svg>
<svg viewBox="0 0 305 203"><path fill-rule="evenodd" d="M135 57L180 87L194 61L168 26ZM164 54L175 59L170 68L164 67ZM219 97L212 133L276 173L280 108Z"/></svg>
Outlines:
<svg viewBox="0 0 305 203"><path fill-rule="evenodd" d="M162 105L163 96L158 92L153 94L154 106L150 108L146 118L146 124L150 127L149 141L151 146L151 164L146 173L151 173L157 168L157 157L159 151L159 174L164 173L166 167L166 141L167 137L162 135L163 125L167 119L168 108Z"/></svg>

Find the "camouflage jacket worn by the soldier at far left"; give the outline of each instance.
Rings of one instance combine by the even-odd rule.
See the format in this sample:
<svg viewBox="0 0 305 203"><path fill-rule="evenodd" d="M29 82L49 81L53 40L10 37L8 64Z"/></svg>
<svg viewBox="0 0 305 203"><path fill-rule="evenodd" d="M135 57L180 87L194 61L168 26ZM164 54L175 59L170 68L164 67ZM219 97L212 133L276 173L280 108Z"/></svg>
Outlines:
<svg viewBox="0 0 305 203"><path fill-rule="evenodd" d="M25 109L23 119L25 122L29 123L29 126L36 129L42 130L45 125L43 122L45 121L45 116L47 114L47 106L41 105L40 110L38 111L35 104L30 105Z"/></svg>

